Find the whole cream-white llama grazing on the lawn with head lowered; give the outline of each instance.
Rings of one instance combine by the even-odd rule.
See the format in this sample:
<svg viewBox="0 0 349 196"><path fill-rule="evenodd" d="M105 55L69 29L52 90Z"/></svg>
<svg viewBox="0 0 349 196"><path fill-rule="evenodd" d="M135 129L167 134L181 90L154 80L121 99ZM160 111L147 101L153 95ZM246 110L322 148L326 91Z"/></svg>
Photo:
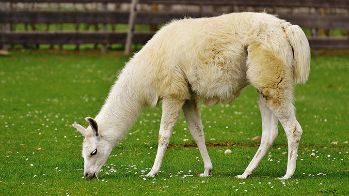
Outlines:
<svg viewBox="0 0 349 196"><path fill-rule="evenodd" d="M144 106L162 100L159 146L147 176L157 175L181 109L210 176L201 100L207 106L231 103L252 84L262 116L260 147L242 175L247 178L278 136L281 122L288 140L286 175L293 176L302 134L293 106L294 83L305 83L310 48L301 28L266 13L234 13L173 21L159 30L129 60L106 103L90 126L73 126L85 136L84 176L95 178L114 145L127 133Z"/></svg>

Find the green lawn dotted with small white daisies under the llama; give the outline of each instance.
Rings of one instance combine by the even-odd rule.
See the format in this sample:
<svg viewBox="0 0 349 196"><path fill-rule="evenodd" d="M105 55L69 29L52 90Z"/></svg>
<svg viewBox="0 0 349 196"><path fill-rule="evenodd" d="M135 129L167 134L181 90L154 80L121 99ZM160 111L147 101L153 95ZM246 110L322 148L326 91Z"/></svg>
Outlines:
<svg viewBox="0 0 349 196"><path fill-rule="evenodd" d="M16 50L0 56L0 195L349 195L344 55L313 56L309 81L295 88L303 135L292 179L274 180L287 164L280 124L279 138L251 177L234 178L254 156L259 141L251 139L262 130L252 86L231 105L202 106L211 177L194 177L204 165L183 116L159 175L142 176L155 159L161 117L160 108L145 108L114 147L99 181L82 178L83 136L71 124L86 127L84 118L95 117L127 60L115 51ZM226 149L232 153L224 154Z"/></svg>

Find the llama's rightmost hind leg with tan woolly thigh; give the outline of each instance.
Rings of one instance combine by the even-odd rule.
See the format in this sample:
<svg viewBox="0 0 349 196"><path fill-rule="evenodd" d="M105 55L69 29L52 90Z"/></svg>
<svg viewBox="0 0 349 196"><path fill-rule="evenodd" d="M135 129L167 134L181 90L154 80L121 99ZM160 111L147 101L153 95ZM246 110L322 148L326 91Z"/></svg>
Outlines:
<svg viewBox="0 0 349 196"><path fill-rule="evenodd" d="M246 72L248 80L260 91L267 106L284 127L288 142L288 161L286 175L282 179L293 176L302 134L292 104L294 83L291 66L292 50L287 43L285 46L265 49L260 45L250 45Z"/></svg>

